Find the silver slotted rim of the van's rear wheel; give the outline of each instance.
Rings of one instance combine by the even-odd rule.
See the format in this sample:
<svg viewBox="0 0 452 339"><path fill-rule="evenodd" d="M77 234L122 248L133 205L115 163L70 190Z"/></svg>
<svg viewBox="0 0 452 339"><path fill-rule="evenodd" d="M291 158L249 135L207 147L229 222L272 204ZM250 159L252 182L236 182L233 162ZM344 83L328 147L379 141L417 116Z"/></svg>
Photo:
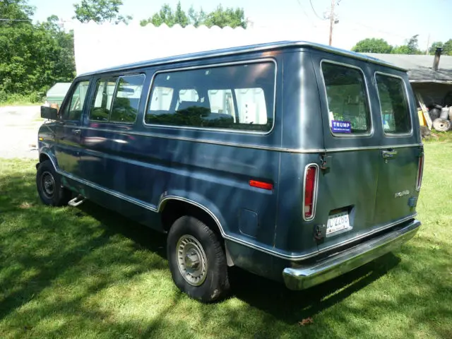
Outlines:
<svg viewBox="0 0 452 339"><path fill-rule="evenodd" d="M185 234L176 246L177 266L185 281L192 286L204 283L207 277L206 252L198 240Z"/></svg>

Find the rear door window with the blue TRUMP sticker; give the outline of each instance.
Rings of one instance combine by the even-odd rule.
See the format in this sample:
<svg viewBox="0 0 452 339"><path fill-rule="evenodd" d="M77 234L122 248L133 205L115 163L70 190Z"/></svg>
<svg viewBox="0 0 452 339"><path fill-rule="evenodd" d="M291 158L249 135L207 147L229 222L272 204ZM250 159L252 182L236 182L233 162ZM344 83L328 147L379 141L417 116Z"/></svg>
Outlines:
<svg viewBox="0 0 452 339"><path fill-rule="evenodd" d="M369 133L370 109L362 71L329 62L322 62L321 69L333 134Z"/></svg>

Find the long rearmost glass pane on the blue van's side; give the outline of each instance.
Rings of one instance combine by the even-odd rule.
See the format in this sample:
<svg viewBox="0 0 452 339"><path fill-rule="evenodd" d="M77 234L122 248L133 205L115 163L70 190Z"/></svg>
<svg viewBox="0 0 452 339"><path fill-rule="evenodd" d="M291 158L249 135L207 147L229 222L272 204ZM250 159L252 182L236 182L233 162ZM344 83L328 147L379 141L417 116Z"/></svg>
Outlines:
<svg viewBox="0 0 452 339"><path fill-rule="evenodd" d="M273 62L262 61L157 73L145 123L270 131L275 71Z"/></svg>

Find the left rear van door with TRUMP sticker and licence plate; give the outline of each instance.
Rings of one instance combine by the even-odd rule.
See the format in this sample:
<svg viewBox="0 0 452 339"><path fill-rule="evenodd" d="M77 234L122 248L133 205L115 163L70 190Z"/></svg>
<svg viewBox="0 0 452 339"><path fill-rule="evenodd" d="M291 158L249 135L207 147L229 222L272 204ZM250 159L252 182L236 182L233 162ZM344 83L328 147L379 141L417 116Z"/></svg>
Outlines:
<svg viewBox="0 0 452 339"><path fill-rule="evenodd" d="M368 83L372 73L363 61L339 56L334 60L319 56L321 67L316 71L326 149L314 220L326 227L318 242L320 251L374 230L380 165L381 129L372 118L378 107L370 100Z"/></svg>

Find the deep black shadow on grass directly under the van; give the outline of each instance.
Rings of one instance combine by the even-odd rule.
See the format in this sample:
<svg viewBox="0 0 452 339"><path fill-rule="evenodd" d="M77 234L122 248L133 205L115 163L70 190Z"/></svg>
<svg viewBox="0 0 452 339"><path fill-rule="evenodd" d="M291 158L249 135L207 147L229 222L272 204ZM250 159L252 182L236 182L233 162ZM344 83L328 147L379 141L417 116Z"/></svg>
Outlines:
<svg viewBox="0 0 452 339"><path fill-rule="evenodd" d="M105 210L95 203L84 203L80 208L102 225L107 225L111 232L122 234L136 244L140 244L140 246L159 254L162 258L166 258L165 234L155 232L148 227L124 218L118 213ZM399 262L400 259L395 255L386 254L386 256L350 273L300 292L288 290L283 283L268 280L233 267L230 268L232 297L242 299L251 307L266 311L275 318L285 321L285 323L294 324L349 297L352 293L385 275ZM332 294L334 295L328 297Z"/></svg>

